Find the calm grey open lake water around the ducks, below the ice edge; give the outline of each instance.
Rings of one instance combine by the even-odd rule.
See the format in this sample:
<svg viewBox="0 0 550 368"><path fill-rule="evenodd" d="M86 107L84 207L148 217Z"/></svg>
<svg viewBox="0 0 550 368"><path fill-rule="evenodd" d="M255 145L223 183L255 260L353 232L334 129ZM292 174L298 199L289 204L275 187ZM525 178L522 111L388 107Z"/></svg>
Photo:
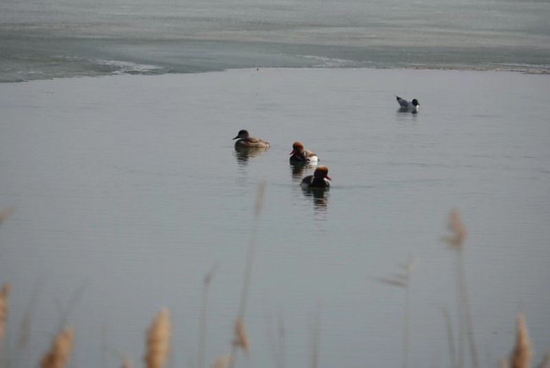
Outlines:
<svg viewBox="0 0 550 368"><path fill-rule="evenodd" d="M76 367L117 366L121 354L139 366L144 332L168 307L173 366L197 367L202 279L215 265L212 362L230 351L255 228L252 354L238 367L276 367L278 321L286 366L307 366L314 316L320 366L398 367L404 290L376 279L411 259L409 366L449 366L441 307L456 332L455 255L441 237L456 208L482 366L509 354L518 312L540 360L550 347L549 93L547 76L398 69L1 84L0 207L17 206L0 228L10 356L39 360L65 310ZM397 112L394 94L419 98L420 112ZM272 147L238 155L239 129ZM329 167L322 198L298 185L314 169L293 172L294 140Z"/></svg>

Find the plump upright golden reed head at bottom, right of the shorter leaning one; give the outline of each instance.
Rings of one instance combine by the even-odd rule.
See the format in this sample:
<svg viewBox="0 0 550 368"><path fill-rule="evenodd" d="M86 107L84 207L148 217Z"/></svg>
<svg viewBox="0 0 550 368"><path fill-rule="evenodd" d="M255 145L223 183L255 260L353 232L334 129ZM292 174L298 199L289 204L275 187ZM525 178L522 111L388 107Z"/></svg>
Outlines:
<svg viewBox="0 0 550 368"><path fill-rule="evenodd" d="M162 368L170 351L170 313L163 308L147 332L146 354L147 368Z"/></svg>

